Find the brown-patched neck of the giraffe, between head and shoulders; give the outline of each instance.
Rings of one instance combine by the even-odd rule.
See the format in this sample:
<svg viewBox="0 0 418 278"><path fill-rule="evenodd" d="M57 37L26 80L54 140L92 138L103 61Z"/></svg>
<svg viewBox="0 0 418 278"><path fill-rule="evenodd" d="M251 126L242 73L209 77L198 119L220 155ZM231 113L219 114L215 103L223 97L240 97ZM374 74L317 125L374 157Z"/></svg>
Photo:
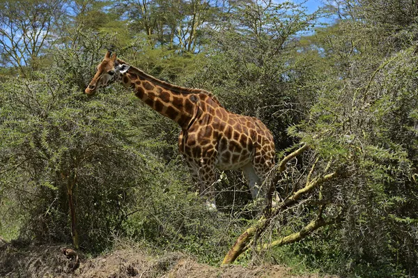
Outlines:
<svg viewBox="0 0 418 278"><path fill-rule="evenodd" d="M125 63L121 60L118 62ZM132 65L119 79L123 85L134 89L137 98L163 116L176 121L181 128L187 128L196 114L199 97L194 93L201 93L199 89L163 82Z"/></svg>

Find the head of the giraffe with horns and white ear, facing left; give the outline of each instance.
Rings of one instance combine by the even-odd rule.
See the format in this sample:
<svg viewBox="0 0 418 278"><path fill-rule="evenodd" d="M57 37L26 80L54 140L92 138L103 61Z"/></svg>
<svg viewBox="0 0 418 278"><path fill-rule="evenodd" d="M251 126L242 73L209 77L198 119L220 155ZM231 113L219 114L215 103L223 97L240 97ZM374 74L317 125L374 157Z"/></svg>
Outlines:
<svg viewBox="0 0 418 278"><path fill-rule="evenodd" d="M107 51L103 61L97 67L98 71L84 92L88 95L93 95L98 88L104 88L114 83L129 68L130 65L118 63L116 52L112 54L110 51Z"/></svg>

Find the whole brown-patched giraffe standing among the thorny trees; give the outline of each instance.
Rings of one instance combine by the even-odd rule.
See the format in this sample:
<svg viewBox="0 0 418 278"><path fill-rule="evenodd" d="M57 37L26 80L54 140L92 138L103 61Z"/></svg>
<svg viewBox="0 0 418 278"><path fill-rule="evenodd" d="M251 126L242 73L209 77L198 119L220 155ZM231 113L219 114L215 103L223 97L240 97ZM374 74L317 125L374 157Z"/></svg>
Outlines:
<svg viewBox="0 0 418 278"><path fill-rule="evenodd" d="M241 169L252 198L265 197L261 185L274 167L274 141L258 118L234 114L212 93L163 82L108 51L85 93L114 82L132 88L146 105L180 125L178 149L210 208L216 208L215 168Z"/></svg>

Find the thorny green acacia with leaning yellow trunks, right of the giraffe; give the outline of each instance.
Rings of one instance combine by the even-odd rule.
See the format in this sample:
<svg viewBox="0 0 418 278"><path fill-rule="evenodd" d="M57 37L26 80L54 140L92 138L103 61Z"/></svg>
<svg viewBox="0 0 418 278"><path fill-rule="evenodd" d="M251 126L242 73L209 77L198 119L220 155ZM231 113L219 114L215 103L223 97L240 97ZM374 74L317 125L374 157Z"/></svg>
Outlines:
<svg viewBox="0 0 418 278"><path fill-rule="evenodd" d="M417 271L412 229L418 221L414 197L418 98L416 71L410 66L417 57L413 51L411 47L382 61L371 76L364 76L365 85L353 91L345 84L348 80L327 86L311 109L311 121L290 132L308 145L279 164L284 201L240 235L223 263L235 261L247 249L263 252L336 224L331 230L337 237L334 248L350 254L339 258L342 265L333 265L339 271L378 277ZM405 82L392 83L393 78L405 76L409 77ZM284 165L297 155L302 169L284 171ZM316 240L320 238L319 233ZM327 242L323 245L326 249ZM348 259L353 264L346 270L343 265ZM364 268L363 261L373 270Z"/></svg>

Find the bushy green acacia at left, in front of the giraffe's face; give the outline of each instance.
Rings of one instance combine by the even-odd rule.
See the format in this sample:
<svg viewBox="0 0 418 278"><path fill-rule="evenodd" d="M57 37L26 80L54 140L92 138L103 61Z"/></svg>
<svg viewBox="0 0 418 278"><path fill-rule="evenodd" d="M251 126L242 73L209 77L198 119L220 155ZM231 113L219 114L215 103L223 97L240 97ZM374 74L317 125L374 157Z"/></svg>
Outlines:
<svg viewBox="0 0 418 278"><path fill-rule="evenodd" d="M78 248L107 238L121 225L128 188L141 182L132 170L141 160L127 147L139 136L125 118L136 114L123 108L132 99L88 100L86 82L75 74L88 78L95 49L108 39L96 36L93 45L80 45L83 51L57 49L47 74L1 84L1 188L24 214L21 235L38 242L72 235Z"/></svg>

